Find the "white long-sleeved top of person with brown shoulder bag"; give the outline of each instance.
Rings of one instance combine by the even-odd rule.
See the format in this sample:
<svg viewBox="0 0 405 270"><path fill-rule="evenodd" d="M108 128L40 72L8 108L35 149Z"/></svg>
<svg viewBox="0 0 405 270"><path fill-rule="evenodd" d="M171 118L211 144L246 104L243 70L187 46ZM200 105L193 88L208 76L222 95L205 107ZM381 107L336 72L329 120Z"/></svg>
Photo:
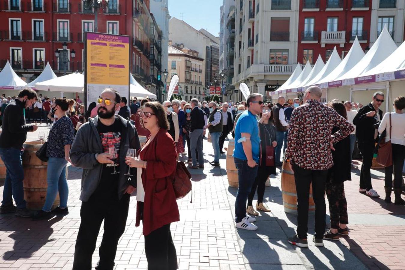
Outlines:
<svg viewBox="0 0 405 270"><path fill-rule="evenodd" d="M405 145L405 114L391 113L391 125L391 143ZM382 118L378 132L381 134L385 129L387 130L385 141L388 142L390 140L390 113L386 113Z"/></svg>

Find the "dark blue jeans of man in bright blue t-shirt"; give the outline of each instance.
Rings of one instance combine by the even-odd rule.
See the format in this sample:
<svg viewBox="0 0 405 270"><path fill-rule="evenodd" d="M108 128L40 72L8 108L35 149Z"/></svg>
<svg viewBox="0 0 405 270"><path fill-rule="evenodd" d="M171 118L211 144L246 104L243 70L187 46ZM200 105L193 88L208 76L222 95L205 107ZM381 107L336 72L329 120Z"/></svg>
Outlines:
<svg viewBox="0 0 405 270"><path fill-rule="evenodd" d="M235 166L238 169L238 181L239 188L238 193L236 193L235 201L235 221L236 223L241 222L244 217L246 217L246 202L247 196L252 189L252 185L257 176L258 166L250 168L247 165L247 160L239 159L234 157Z"/></svg>

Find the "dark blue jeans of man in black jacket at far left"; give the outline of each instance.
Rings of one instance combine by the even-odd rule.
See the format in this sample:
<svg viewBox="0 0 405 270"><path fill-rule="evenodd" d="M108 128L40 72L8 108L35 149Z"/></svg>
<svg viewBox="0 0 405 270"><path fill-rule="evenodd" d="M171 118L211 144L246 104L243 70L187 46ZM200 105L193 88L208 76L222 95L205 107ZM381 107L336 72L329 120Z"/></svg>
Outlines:
<svg viewBox="0 0 405 270"><path fill-rule="evenodd" d="M23 151L17 148L0 148L0 157L6 166L6 179L4 180L2 205L17 204L18 209L26 208L24 200L23 180L24 170L22 164Z"/></svg>

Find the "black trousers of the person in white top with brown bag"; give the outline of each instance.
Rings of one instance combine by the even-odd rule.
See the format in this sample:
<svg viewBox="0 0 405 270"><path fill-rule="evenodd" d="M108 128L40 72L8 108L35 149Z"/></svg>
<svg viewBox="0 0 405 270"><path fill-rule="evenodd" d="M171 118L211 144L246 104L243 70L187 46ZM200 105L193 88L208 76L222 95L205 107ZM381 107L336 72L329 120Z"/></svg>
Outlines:
<svg viewBox="0 0 405 270"><path fill-rule="evenodd" d="M392 144L392 165L385 167L385 186L392 187L392 172L394 172L394 187L402 187L402 169L405 160L405 145Z"/></svg>

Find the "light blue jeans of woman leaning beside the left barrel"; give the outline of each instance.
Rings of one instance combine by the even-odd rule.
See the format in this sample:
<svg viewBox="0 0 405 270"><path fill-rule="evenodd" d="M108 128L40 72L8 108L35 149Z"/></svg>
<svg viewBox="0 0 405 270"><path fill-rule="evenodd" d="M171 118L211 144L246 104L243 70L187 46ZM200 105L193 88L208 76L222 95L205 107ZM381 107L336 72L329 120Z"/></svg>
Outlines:
<svg viewBox="0 0 405 270"><path fill-rule="evenodd" d="M45 212L50 212L56 195L59 192L60 208L66 208L68 204L69 188L66 182L66 164L64 158L49 157L47 168L47 198L42 208Z"/></svg>

